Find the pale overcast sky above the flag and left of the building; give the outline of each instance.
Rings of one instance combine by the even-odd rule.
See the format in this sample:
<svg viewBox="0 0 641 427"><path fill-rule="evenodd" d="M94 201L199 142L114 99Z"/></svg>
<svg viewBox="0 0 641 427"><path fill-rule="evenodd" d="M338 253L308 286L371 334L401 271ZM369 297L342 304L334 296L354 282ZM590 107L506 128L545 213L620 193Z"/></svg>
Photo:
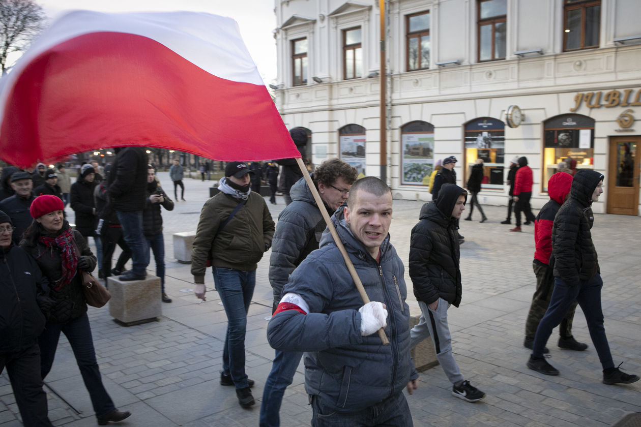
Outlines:
<svg viewBox="0 0 641 427"><path fill-rule="evenodd" d="M189 10L231 17L238 22L265 84L276 79L276 28L274 0L36 0L49 17L65 10L88 9L99 12L158 12Z"/></svg>

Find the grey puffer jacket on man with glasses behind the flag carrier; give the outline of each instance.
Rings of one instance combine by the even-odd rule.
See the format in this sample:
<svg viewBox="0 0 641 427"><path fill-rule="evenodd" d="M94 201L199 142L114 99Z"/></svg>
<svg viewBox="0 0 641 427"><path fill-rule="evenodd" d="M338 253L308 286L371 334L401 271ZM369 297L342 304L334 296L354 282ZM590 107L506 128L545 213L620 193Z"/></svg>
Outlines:
<svg viewBox="0 0 641 427"><path fill-rule="evenodd" d="M281 299L281 291L289 275L310 252L319 248L320 237L327 227L304 178L292 186L290 197L292 203L278 216L269 258L269 283L274 290L274 309ZM333 213L326 205L324 209L330 215Z"/></svg>

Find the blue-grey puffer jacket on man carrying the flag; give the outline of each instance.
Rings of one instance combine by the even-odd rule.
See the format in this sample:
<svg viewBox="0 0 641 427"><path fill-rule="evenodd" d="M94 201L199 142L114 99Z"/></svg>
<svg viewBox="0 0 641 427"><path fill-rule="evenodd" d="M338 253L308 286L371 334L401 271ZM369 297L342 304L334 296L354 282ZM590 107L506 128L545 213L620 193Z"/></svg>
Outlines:
<svg viewBox="0 0 641 427"><path fill-rule="evenodd" d="M410 309L403 280L403 261L390 244L381 245L379 262L354 238L341 210L332 221L370 300L387 305L385 334L360 332L363 301L329 231L320 249L294 270L283 294L299 294L310 312L286 310L272 317L267 339L281 351L305 353L305 390L338 412L355 412L395 396L418 373L410 360Z"/></svg>

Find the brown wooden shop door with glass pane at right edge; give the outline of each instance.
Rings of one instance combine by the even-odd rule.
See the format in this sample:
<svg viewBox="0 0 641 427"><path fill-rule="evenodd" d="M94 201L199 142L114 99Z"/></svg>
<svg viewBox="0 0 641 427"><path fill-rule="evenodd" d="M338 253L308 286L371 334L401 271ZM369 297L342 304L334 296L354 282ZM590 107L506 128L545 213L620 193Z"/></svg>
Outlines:
<svg viewBox="0 0 641 427"><path fill-rule="evenodd" d="M638 215L641 136L610 138L608 213Z"/></svg>

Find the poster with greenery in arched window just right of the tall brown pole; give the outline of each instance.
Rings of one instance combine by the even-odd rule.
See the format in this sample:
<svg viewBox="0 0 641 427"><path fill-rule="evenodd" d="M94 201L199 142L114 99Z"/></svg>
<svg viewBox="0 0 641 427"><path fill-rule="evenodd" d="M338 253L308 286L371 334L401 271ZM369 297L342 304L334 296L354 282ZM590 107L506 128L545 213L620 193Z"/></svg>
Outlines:
<svg viewBox="0 0 641 427"><path fill-rule="evenodd" d="M434 133L406 133L403 146L403 184L428 185L434 170Z"/></svg>

